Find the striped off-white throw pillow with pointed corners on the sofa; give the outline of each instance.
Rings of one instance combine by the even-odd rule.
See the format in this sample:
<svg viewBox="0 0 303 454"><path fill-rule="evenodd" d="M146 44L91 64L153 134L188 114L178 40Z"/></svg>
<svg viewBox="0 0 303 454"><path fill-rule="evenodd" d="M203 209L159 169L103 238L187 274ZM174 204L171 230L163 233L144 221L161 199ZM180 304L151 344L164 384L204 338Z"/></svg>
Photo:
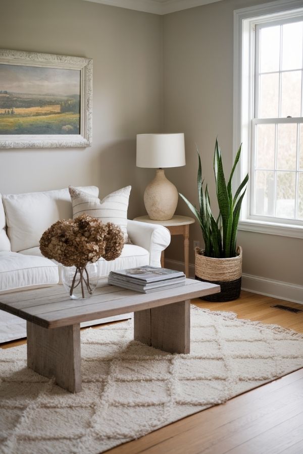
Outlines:
<svg viewBox="0 0 303 454"><path fill-rule="evenodd" d="M89 216L96 217L100 221L119 225L123 234L124 241L128 241L126 230L127 209L131 186L119 189L107 195L103 200L91 194L87 194L79 188L69 187L72 205L73 219L85 213Z"/></svg>

